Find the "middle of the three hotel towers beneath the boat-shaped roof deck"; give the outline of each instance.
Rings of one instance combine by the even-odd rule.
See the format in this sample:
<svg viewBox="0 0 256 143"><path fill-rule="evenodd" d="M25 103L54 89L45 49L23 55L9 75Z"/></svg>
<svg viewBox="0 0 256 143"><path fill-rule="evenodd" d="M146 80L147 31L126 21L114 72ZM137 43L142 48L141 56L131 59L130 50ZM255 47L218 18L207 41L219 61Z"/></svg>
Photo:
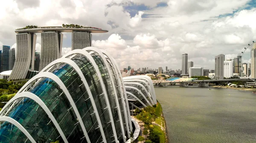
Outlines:
<svg viewBox="0 0 256 143"><path fill-rule="evenodd" d="M41 57L39 71L61 57L63 34L56 31L41 33Z"/></svg>

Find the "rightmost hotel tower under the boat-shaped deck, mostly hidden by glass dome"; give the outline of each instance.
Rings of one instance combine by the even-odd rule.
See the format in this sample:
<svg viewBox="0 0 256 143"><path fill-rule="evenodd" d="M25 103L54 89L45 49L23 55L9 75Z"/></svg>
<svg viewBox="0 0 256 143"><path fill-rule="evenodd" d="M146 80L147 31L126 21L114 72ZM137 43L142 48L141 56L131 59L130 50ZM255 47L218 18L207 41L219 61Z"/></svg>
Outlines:
<svg viewBox="0 0 256 143"><path fill-rule="evenodd" d="M91 46L91 34L87 31L72 32L72 50Z"/></svg>

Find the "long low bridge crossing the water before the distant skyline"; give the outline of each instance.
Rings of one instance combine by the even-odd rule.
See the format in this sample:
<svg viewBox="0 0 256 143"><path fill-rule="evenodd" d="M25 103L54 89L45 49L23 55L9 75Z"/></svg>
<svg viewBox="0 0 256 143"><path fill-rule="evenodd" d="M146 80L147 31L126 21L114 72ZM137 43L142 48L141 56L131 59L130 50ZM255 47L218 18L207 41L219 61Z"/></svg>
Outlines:
<svg viewBox="0 0 256 143"><path fill-rule="evenodd" d="M179 83L182 87L187 87L189 84L198 84L198 86L201 87L208 87L209 83L215 83L215 82L230 82L230 81L248 81L252 82L255 79L250 78L242 78L242 79L209 79L209 80L186 80L186 81L167 81L167 80L153 80L153 84L158 84L159 86L167 86L168 84L175 85L176 83ZM253 81L254 82L254 81Z"/></svg>

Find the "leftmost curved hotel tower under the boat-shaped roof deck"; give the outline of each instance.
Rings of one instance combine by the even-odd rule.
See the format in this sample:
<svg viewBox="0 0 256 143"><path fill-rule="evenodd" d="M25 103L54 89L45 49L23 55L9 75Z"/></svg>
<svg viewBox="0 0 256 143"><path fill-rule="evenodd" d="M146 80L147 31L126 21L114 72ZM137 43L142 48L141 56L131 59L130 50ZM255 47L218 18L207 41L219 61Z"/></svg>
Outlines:
<svg viewBox="0 0 256 143"><path fill-rule="evenodd" d="M36 34L18 33L17 39L17 54L10 80L25 79L29 71L30 65L34 64L35 58L35 43ZM32 69L34 70L34 69Z"/></svg>

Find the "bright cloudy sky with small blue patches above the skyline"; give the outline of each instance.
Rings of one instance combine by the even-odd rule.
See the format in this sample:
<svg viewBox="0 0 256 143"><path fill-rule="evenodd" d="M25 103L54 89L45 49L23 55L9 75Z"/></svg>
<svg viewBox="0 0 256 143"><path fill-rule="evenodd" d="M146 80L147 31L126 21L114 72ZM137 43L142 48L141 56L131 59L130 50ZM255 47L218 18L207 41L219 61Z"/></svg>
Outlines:
<svg viewBox="0 0 256 143"><path fill-rule="evenodd" d="M256 40L255 18L256 0L0 0L0 47L16 47L16 28L73 23L108 30L93 46L120 68L181 69L188 53L195 67L214 69L216 55L233 59ZM70 47L64 33L63 52Z"/></svg>

